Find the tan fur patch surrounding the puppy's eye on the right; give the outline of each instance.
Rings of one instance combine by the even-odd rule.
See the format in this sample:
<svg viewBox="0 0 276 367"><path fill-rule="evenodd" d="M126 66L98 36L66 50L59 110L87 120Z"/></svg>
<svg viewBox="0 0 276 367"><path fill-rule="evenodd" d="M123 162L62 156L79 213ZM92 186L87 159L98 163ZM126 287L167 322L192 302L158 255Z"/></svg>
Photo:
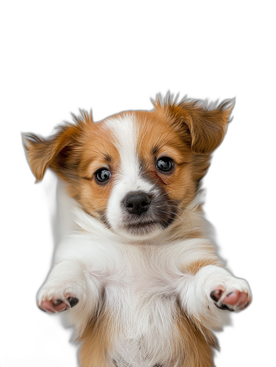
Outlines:
<svg viewBox="0 0 276 367"><path fill-rule="evenodd" d="M136 112L139 121L137 150L144 164L144 173L152 182L161 185L171 200L184 208L195 195L196 182L193 179L194 154L189 146L189 134L185 139L173 127L173 119L164 111ZM156 163L161 157L173 159L172 171L158 171Z"/></svg>

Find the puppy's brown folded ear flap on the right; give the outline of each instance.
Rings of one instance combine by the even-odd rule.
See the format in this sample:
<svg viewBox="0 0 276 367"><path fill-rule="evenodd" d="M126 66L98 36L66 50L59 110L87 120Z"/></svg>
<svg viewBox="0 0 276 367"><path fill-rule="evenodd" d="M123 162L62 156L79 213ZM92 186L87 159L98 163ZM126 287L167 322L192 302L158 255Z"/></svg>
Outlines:
<svg viewBox="0 0 276 367"><path fill-rule="evenodd" d="M192 152L199 155L210 154L222 142L235 99L228 99L215 105L200 105L190 102L182 104L183 123L191 134Z"/></svg>

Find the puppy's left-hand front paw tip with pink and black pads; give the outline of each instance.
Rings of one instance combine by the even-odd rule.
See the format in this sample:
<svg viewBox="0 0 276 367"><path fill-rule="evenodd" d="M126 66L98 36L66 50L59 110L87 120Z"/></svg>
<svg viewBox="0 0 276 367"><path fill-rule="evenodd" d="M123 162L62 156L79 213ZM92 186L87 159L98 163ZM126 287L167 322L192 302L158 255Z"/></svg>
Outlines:
<svg viewBox="0 0 276 367"><path fill-rule="evenodd" d="M66 311L79 302L78 297L70 291L40 291L37 306L43 312L59 313Z"/></svg>

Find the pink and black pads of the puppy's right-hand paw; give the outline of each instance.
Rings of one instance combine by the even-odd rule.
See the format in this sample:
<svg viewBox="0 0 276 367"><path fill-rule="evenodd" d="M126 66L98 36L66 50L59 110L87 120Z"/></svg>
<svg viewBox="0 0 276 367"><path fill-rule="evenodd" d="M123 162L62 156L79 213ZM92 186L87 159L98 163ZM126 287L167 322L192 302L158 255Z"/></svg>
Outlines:
<svg viewBox="0 0 276 367"><path fill-rule="evenodd" d="M251 298L248 298L248 294L246 292L233 291L228 293L223 299L220 301L222 297L223 291L221 289L217 289L211 292L211 298L216 302L216 306L222 310L244 310L251 303Z"/></svg>

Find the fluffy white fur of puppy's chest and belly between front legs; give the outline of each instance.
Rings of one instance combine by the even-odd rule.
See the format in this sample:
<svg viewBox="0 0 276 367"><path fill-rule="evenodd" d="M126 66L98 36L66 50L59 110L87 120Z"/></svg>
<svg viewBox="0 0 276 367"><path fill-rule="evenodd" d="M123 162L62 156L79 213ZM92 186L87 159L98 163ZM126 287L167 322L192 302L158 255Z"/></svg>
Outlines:
<svg viewBox="0 0 276 367"><path fill-rule="evenodd" d="M153 367L161 362L169 366L179 334L175 279L152 259L149 262L137 254L135 259L135 263L122 263L117 272L102 275L99 313L105 323L108 319L110 354L120 367Z"/></svg>

